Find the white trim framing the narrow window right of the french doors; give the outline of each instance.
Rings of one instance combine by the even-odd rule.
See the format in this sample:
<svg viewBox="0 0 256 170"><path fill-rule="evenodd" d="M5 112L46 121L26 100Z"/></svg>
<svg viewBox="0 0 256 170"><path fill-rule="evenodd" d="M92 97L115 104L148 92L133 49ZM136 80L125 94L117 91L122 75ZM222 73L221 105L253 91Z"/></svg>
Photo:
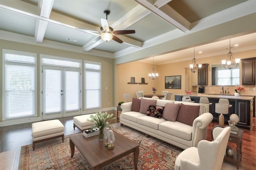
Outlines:
<svg viewBox="0 0 256 170"><path fill-rule="evenodd" d="M96 71L96 72L100 72L100 106L99 107L93 107L93 108L89 108L89 109L98 109L98 108L102 108L102 81L101 81L101 77L102 77L102 65L100 62L96 62L96 61L86 61L84 60L84 110L89 110L86 108L86 67L85 67L85 64L88 63L88 64L95 64L95 65L100 65L100 71ZM95 71L92 69L92 71Z"/></svg>

